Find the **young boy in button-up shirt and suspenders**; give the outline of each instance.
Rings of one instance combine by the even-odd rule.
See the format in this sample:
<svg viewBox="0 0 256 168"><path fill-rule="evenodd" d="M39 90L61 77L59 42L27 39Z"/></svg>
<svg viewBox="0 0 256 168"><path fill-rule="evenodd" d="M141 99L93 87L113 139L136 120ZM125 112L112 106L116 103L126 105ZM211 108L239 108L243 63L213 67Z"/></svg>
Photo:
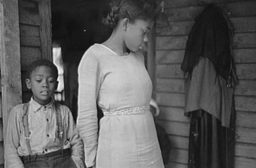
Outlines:
<svg viewBox="0 0 256 168"><path fill-rule="evenodd" d="M53 101L57 67L37 60L27 71L33 96L9 114L5 139L7 168L85 168L82 139L68 107Z"/></svg>

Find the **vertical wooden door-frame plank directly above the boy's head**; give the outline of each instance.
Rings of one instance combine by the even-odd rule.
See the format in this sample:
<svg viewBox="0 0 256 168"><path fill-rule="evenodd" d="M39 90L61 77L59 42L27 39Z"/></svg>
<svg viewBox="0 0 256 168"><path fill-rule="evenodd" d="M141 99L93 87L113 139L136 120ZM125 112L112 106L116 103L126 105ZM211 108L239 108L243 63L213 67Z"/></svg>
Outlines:
<svg viewBox="0 0 256 168"><path fill-rule="evenodd" d="M40 39L42 58L52 61L52 41L51 41L51 0L41 0L38 3L41 17Z"/></svg>

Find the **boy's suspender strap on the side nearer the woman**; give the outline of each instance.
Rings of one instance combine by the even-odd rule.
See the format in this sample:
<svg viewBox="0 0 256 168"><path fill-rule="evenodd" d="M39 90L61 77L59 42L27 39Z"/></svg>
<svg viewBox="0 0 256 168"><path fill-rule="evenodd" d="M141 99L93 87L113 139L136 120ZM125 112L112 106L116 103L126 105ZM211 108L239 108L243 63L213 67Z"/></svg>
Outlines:
<svg viewBox="0 0 256 168"><path fill-rule="evenodd" d="M63 150L63 125L62 125L62 118L61 118L61 110L60 110L60 104L54 103L55 109L56 109L56 121L58 126L58 138L61 141L61 150Z"/></svg>

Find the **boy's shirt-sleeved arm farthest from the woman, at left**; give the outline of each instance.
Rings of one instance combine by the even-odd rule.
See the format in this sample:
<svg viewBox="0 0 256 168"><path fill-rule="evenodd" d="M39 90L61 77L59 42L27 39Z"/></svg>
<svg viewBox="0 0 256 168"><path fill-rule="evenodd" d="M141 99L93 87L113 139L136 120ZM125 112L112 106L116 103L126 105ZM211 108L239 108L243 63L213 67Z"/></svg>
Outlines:
<svg viewBox="0 0 256 168"><path fill-rule="evenodd" d="M4 140L5 161L7 168L24 168L18 154L20 146L20 126L22 126L22 108L13 108L10 111L6 139Z"/></svg>

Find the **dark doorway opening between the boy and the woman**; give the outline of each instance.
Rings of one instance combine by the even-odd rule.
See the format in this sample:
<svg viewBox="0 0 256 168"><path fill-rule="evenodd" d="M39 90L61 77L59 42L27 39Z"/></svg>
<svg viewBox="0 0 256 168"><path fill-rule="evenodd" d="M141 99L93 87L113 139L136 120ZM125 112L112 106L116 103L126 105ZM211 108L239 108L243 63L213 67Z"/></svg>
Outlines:
<svg viewBox="0 0 256 168"><path fill-rule="evenodd" d="M63 104L77 118L77 67L82 55L94 43L102 43L112 30L102 24L110 0L51 0L52 43L61 48L63 65Z"/></svg>

